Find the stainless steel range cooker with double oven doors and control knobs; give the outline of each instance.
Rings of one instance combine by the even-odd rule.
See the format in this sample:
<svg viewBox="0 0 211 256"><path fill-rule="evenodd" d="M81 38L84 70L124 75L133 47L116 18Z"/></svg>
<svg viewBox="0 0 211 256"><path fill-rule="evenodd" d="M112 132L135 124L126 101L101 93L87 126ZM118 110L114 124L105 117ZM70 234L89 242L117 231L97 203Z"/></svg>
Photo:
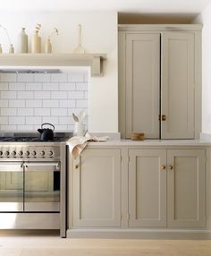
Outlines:
<svg viewBox="0 0 211 256"><path fill-rule="evenodd" d="M66 134L0 137L0 228L66 233Z"/></svg>

